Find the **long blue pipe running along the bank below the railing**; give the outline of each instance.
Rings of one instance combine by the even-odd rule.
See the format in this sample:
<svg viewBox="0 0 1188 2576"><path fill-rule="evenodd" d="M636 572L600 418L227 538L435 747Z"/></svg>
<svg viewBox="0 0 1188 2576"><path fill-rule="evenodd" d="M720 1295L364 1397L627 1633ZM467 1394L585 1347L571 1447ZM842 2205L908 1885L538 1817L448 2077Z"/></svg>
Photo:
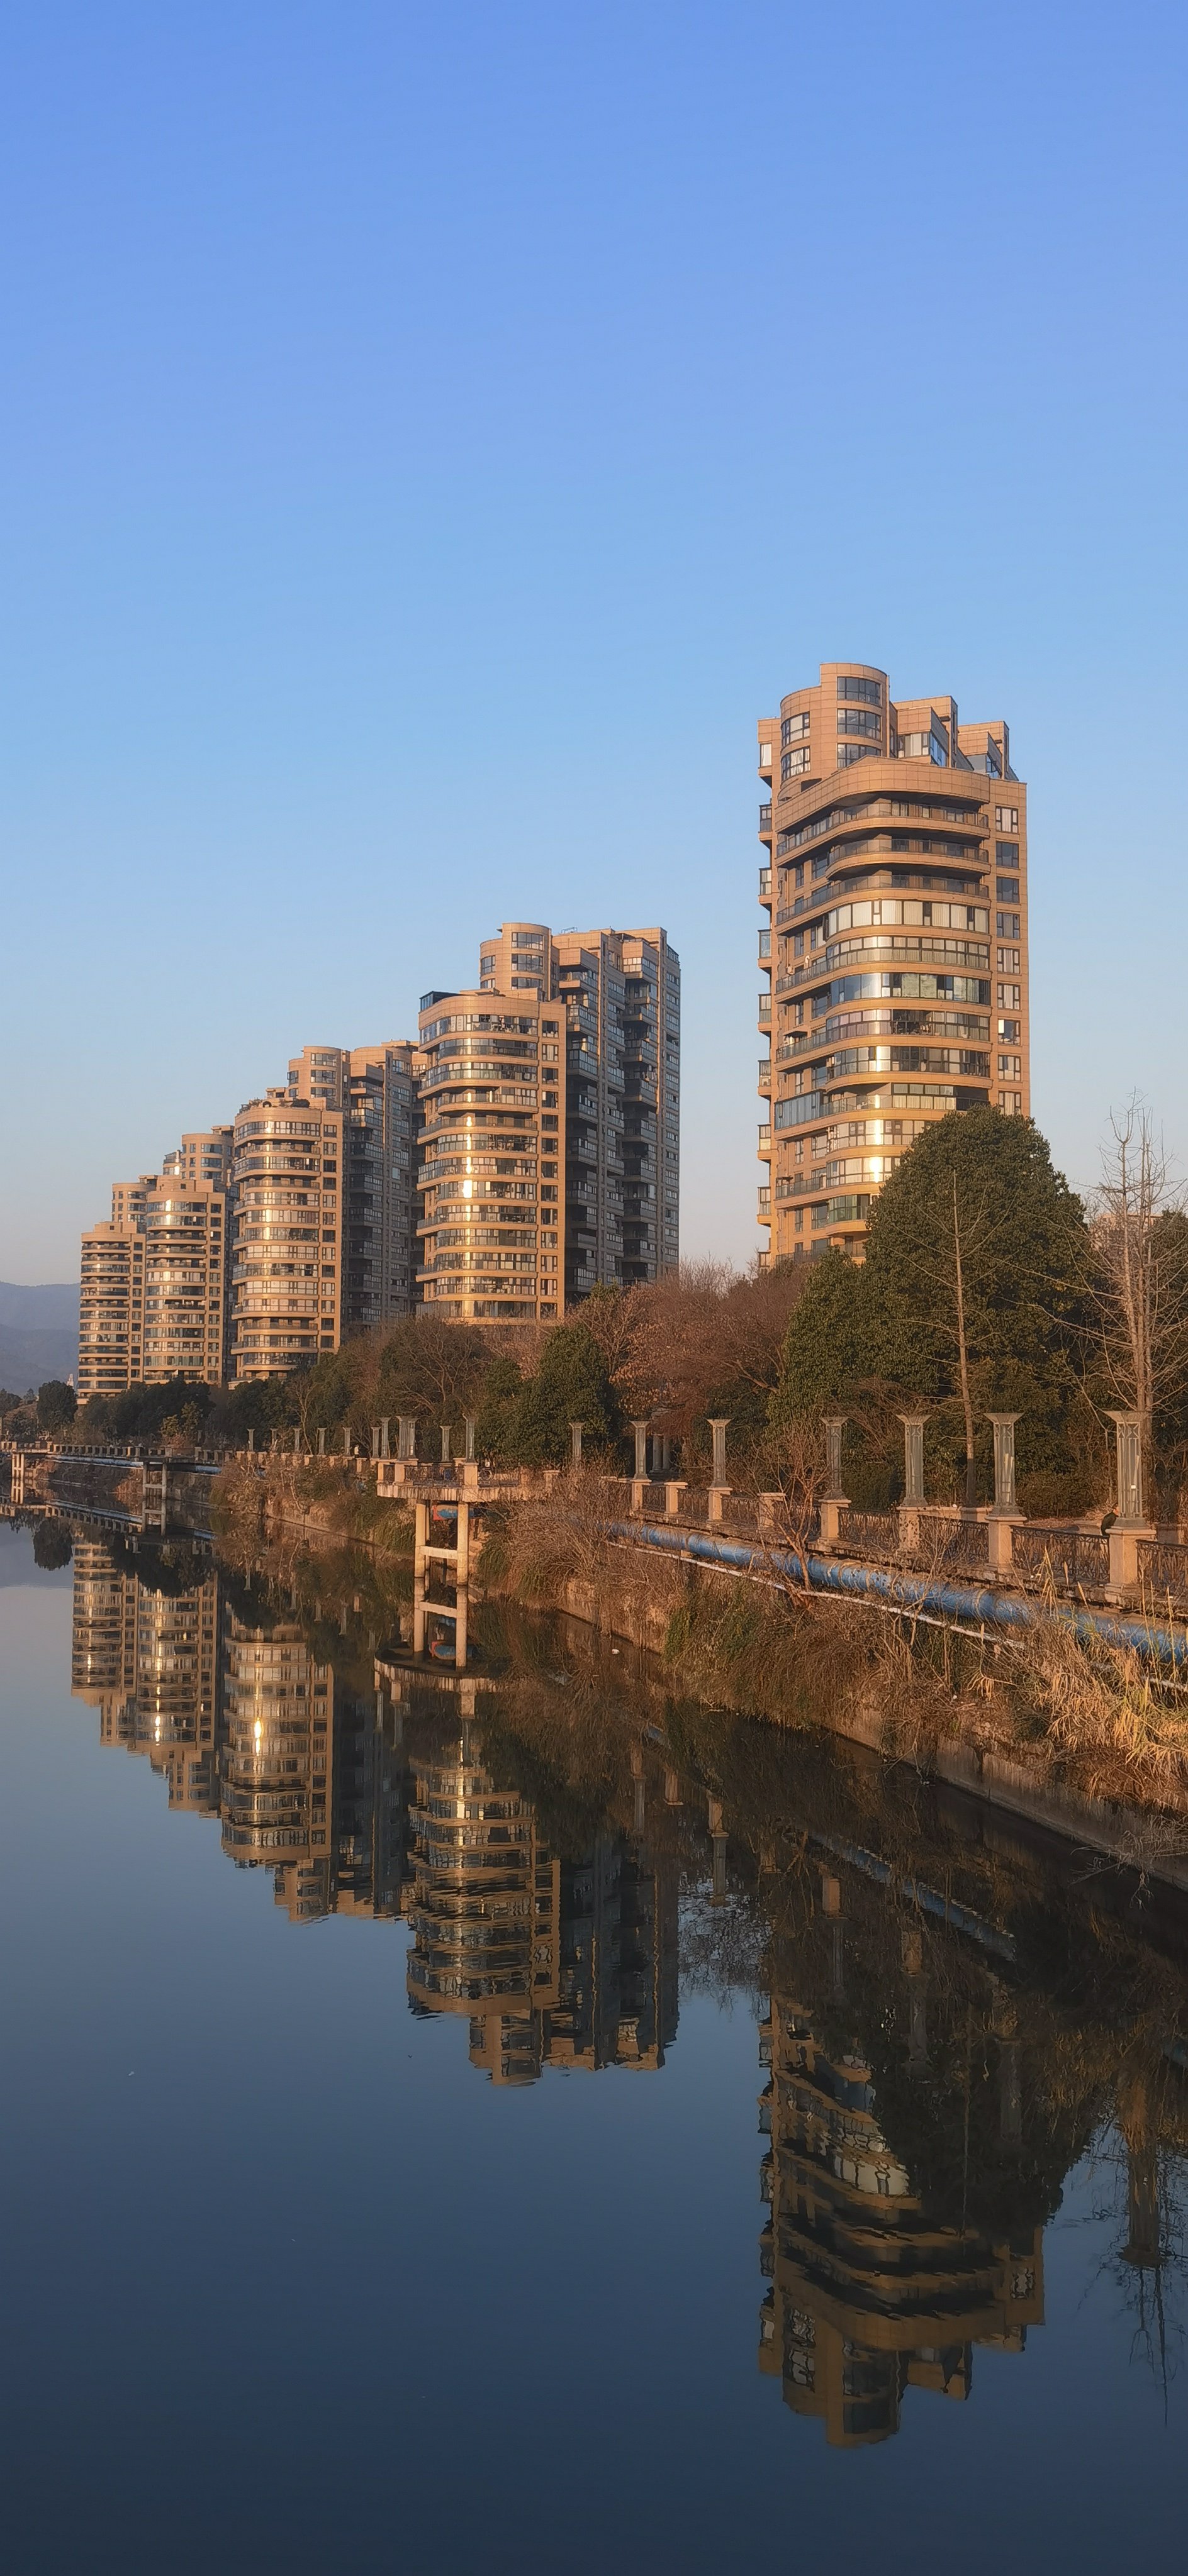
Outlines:
<svg viewBox="0 0 1188 2576"><path fill-rule="evenodd" d="M611 1538L691 1556L706 1566L737 1566L742 1574L786 1574L812 1592L845 1592L856 1600L892 1602L894 1610L941 1610L946 1618L977 1620L982 1628L1033 1628L1036 1605L1018 1595L974 1592L972 1584L935 1584L925 1574L884 1574L881 1566L840 1566L830 1556L799 1556L794 1548L747 1548L729 1538L704 1538L698 1530L660 1530L652 1520L611 1520ZM1103 1610L1075 1610L1072 1602L1044 1605L1046 1618L1064 1620L1080 1641L1106 1638L1129 1646L1152 1664L1188 1664L1188 1631L1152 1628L1149 1620L1108 1618Z"/></svg>

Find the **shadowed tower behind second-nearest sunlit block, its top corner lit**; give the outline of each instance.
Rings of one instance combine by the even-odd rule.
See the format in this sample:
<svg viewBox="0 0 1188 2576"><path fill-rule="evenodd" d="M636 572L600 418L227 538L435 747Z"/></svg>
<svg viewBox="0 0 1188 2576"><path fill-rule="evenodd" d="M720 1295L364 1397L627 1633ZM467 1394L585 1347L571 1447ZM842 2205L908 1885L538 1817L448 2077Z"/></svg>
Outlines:
<svg viewBox="0 0 1188 2576"><path fill-rule="evenodd" d="M417 1303L417 1048L304 1046L289 1064L299 1100L343 1110L343 1332L366 1332Z"/></svg>

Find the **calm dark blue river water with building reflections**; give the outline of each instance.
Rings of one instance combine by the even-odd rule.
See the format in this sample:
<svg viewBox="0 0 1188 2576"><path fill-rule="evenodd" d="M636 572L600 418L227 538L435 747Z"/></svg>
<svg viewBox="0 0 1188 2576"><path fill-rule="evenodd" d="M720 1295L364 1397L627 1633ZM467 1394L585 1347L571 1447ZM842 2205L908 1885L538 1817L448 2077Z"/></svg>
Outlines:
<svg viewBox="0 0 1188 2576"><path fill-rule="evenodd" d="M0 1525L5 2566L1178 2563L1185 1904L397 1592Z"/></svg>

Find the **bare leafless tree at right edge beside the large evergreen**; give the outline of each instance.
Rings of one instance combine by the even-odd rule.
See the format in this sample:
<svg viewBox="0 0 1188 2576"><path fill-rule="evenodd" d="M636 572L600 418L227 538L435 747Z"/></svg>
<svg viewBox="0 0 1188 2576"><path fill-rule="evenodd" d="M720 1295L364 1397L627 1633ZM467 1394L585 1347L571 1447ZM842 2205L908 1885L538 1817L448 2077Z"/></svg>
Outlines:
<svg viewBox="0 0 1188 2576"><path fill-rule="evenodd" d="M1093 1206L1093 1303L1111 1394L1142 1419L1152 1458L1154 1417L1188 1368L1188 1221L1183 1185L1134 1092L1111 1113L1111 1144Z"/></svg>

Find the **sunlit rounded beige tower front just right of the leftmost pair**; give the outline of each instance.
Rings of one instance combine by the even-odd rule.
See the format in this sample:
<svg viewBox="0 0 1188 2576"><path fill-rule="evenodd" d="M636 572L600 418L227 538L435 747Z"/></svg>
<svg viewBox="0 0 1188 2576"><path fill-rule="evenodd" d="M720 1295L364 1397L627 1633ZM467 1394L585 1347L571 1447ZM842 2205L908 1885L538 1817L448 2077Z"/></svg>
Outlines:
<svg viewBox="0 0 1188 2576"><path fill-rule="evenodd" d="M271 1378L343 1337L345 1110L271 1090L235 1121L227 1376Z"/></svg>

